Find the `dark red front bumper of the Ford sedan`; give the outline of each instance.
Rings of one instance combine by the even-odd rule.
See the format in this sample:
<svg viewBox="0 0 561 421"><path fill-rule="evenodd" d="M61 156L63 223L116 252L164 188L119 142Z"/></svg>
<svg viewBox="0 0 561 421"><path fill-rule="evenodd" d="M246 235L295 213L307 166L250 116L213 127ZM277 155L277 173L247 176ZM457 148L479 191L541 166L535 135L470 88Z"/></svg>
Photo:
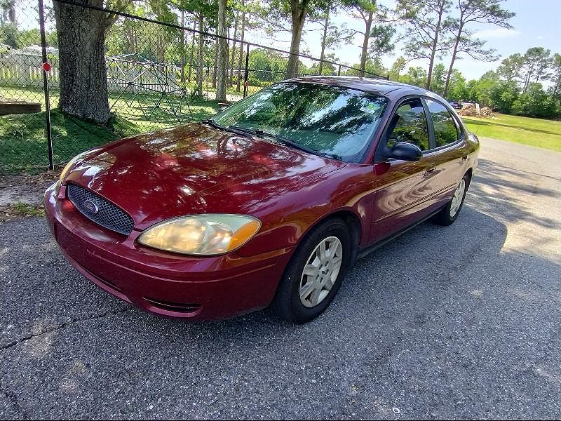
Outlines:
<svg viewBox="0 0 561 421"><path fill-rule="evenodd" d="M97 286L148 312L224 319L269 305L292 248L243 258L194 258L140 246L84 217L65 187L45 193L48 226L69 262Z"/></svg>

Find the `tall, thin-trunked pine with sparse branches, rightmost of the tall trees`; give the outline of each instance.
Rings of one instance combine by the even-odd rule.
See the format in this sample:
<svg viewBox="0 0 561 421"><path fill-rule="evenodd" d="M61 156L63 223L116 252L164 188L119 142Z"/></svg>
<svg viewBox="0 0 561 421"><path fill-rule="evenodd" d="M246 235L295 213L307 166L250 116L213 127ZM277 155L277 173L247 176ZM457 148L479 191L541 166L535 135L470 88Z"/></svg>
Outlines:
<svg viewBox="0 0 561 421"><path fill-rule="evenodd" d="M450 76L454 69L454 62L459 53L466 53L476 60L495 60L492 50L482 48L485 41L473 38L469 27L473 24L488 24L503 28L511 28L508 19L515 14L501 8L503 0L458 0L457 11L459 17L454 19L452 30L454 32L454 45L452 58L442 95L446 96L450 84Z"/></svg>

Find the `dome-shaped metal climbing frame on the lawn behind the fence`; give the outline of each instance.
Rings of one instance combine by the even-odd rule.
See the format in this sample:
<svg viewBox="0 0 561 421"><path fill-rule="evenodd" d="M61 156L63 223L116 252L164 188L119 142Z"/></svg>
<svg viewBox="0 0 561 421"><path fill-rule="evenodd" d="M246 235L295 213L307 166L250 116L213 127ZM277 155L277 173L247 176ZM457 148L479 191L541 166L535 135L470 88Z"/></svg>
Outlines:
<svg viewBox="0 0 561 421"><path fill-rule="evenodd" d="M106 62L107 89L119 93L109 101L112 111L147 121L192 119L189 93L175 81L174 65L137 53L107 57Z"/></svg>

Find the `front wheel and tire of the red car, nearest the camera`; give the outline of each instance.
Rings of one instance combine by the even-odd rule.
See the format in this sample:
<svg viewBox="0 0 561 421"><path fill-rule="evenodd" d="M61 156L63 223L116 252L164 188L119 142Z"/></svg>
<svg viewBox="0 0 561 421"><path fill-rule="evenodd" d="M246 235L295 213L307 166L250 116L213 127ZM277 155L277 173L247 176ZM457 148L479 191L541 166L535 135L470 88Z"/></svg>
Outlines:
<svg viewBox="0 0 561 421"><path fill-rule="evenodd" d="M322 243L325 245L323 260L320 259ZM273 311L286 321L298 324L319 316L341 287L351 262L352 247L349 227L342 220L327 220L313 228L285 269L271 304ZM334 273L339 257L341 265Z"/></svg>

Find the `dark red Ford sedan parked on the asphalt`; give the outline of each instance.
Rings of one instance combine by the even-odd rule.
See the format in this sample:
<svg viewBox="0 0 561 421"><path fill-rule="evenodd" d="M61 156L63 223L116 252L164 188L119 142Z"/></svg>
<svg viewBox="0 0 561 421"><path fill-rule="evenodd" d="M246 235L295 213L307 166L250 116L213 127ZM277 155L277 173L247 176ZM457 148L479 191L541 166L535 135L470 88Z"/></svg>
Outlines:
<svg viewBox="0 0 561 421"><path fill-rule="evenodd" d="M303 323L357 258L428 218L454 222L478 149L431 92L292 79L76 156L46 216L79 272L149 312L209 320L272 305Z"/></svg>

